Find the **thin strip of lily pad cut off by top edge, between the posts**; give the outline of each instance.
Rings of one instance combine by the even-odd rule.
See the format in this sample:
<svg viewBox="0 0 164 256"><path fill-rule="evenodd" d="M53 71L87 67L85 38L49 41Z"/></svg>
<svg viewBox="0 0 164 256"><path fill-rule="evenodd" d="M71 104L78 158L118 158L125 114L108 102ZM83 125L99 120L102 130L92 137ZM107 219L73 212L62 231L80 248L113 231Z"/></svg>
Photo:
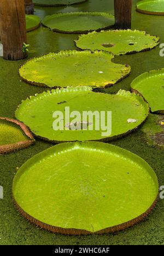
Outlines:
<svg viewBox="0 0 164 256"><path fill-rule="evenodd" d="M71 5L79 4L86 2L87 0L34 0L35 5L43 6L62 6L62 5Z"/></svg>

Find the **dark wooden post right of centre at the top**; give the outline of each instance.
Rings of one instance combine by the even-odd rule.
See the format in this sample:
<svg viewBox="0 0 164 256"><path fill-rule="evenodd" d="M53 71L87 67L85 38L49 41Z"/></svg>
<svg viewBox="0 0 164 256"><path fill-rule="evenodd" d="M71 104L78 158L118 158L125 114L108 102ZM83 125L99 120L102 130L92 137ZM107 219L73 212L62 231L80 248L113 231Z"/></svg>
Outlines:
<svg viewBox="0 0 164 256"><path fill-rule="evenodd" d="M114 0L115 27L131 28L132 0Z"/></svg>

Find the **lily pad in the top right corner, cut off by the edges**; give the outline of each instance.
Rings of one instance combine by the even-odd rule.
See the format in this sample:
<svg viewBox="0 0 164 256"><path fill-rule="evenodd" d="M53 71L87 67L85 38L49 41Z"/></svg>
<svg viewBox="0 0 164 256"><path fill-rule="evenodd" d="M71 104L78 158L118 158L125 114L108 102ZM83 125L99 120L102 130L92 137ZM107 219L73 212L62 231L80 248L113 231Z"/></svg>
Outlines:
<svg viewBox="0 0 164 256"><path fill-rule="evenodd" d="M137 10L144 14L164 15L163 0L144 0L137 3Z"/></svg>

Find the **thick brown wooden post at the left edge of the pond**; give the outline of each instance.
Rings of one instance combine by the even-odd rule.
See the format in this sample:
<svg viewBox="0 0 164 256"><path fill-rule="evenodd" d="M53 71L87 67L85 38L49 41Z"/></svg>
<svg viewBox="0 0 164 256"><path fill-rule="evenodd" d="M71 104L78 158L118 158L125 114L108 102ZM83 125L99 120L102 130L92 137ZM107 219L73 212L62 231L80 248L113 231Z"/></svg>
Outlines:
<svg viewBox="0 0 164 256"><path fill-rule="evenodd" d="M1 0L0 25L4 59L26 58L27 52L22 51L23 43L27 43L24 0Z"/></svg>

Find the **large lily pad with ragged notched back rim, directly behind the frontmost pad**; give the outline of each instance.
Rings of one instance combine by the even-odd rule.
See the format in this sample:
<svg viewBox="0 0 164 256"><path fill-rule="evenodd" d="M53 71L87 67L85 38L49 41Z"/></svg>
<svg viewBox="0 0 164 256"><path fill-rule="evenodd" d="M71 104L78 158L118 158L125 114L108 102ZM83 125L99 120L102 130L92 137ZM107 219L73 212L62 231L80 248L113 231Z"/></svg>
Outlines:
<svg viewBox="0 0 164 256"><path fill-rule="evenodd" d="M77 120L69 118L74 110L79 113ZM107 111L112 112L108 124ZM92 117L95 112L96 116ZM101 112L105 112L104 115ZM90 87L56 89L31 96L22 101L15 113L16 118L30 127L36 136L57 143L116 139L135 130L148 114L148 104L139 95L124 90L116 95L102 94L93 92ZM103 120L106 120L108 129Z"/></svg>

